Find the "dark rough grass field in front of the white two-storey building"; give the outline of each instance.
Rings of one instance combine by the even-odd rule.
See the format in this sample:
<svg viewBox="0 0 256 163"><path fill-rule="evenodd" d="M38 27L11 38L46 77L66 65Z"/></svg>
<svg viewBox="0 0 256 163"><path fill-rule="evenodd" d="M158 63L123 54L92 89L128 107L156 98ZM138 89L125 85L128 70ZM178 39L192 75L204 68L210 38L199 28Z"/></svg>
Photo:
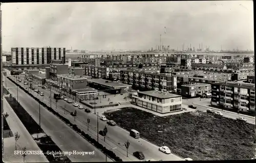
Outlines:
<svg viewBox="0 0 256 163"><path fill-rule="evenodd" d="M255 125L204 112L158 117L136 108L124 107L104 113L119 126L140 132L141 137L159 146L168 146L194 160L251 159L255 155ZM159 125L161 125L159 127ZM164 134L159 132L163 130ZM163 137L164 135L164 137Z"/></svg>

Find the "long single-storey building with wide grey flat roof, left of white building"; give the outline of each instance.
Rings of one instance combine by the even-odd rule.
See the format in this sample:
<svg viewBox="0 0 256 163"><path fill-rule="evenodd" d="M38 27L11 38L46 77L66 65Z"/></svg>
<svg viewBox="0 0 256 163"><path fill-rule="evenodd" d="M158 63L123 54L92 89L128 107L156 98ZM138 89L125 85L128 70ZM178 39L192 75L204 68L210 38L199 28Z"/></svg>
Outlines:
<svg viewBox="0 0 256 163"><path fill-rule="evenodd" d="M106 90L106 92L112 94L125 93L125 89L131 89L131 85L126 85L123 83L113 82L110 80L105 80L101 78L88 79L88 86L98 89L98 90ZM126 89L126 90L128 90Z"/></svg>

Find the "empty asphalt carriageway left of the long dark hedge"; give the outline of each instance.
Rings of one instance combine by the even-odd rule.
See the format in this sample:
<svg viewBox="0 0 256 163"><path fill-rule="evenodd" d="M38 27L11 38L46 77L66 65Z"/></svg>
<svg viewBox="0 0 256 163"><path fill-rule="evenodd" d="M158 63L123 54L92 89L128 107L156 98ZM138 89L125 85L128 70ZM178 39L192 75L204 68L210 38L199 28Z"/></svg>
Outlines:
<svg viewBox="0 0 256 163"><path fill-rule="evenodd" d="M7 88L15 85L7 79ZM9 92L16 96L16 88L9 88ZM39 104L23 90L18 89L18 101L32 118L39 122ZM95 151L94 155L70 155L68 156L73 162L77 161L105 161L105 155L95 148L88 141L83 139L71 127L50 113L46 108L40 107L41 128L50 135L52 140L59 146L62 151ZM22 135L21 135L22 136ZM108 158L108 161L112 161Z"/></svg>

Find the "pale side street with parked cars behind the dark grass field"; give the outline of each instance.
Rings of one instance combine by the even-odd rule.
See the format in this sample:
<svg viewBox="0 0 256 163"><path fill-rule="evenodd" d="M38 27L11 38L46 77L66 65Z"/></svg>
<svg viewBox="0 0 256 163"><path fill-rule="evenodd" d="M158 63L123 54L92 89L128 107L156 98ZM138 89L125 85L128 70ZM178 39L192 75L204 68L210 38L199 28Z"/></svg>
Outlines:
<svg viewBox="0 0 256 163"><path fill-rule="evenodd" d="M188 100L182 100L182 104L184 105L195 105L197 106L197 110L199 111L203 111L206 112L207 105L210 104L210 99L202 99L201 101L199 101L199 99L188 99ZM225 111L220 111L218 109L216 109L215 107L210 107L212 110L214 110L215 112L221 112L223 114L223 117L226 118L231 118L231 119L237 119L239 117L244 117L247 120L247 123L251 123L255 125L255 118L253 117L248 117L248 116L244 116L243 114L237 114L237 113L230 113L230 112L225 112Z"/></svg>

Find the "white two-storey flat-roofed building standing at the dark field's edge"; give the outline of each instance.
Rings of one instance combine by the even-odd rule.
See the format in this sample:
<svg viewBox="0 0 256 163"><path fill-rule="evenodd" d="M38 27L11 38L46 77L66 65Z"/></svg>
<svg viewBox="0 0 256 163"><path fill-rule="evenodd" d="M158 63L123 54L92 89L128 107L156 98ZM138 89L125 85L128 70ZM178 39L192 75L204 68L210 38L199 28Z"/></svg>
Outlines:
<svg viewBox="0 0 256 163"><path fill-rule="evenodd" d="M182 111L182 96L168 92L139 91L132 95L132 103L162 114Z"/></svg>

